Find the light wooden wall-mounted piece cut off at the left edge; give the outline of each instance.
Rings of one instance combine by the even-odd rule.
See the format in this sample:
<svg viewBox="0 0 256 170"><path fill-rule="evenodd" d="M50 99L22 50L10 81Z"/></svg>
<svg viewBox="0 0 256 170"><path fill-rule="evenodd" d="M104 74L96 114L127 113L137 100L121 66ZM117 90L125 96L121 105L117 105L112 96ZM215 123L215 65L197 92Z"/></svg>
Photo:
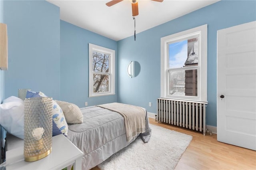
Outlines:
<svg viewBox="0 0 256 170"><path fill-rule="evenodd" d="M0 23L0 69L8 69L7 25Z"/></svg>

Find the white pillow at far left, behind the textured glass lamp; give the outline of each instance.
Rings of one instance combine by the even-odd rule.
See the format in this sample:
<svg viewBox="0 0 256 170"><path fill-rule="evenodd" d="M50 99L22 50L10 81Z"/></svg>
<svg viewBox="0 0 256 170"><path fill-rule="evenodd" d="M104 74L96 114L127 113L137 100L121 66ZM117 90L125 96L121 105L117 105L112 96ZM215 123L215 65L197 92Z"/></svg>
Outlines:
<svg viewBox="0 0 256 170"><path fill-rule="evenodd" d="M24 102L22 99L11 96L0 105L0 124L4 129L24 139Z"/></svg>

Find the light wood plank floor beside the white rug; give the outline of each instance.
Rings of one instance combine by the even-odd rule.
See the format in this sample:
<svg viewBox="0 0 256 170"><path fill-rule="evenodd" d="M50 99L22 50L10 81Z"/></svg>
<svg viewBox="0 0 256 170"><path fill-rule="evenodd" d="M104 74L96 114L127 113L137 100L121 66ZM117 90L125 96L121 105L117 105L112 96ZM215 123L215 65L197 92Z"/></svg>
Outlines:
<svg viewBox="0 0 256 170"><path fill-rule="evenodd" d="M256 170L256 151L217 141L216 134L206 134L150 118L150 124L193 136L176 170ZM171 139L170 139L171 140ZM97 166L92 170L100 170Z"/></svg>

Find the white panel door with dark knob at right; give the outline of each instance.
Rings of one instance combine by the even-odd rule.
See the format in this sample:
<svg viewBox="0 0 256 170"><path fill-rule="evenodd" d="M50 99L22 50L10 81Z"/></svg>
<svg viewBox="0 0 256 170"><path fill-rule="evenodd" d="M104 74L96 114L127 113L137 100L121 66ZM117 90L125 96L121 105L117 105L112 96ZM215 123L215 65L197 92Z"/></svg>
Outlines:
<svg viewBox="0 0 256 170"><path fill-rule="evenodd" d="M256 150L256 22L218 30L217 140Z"/></svg>

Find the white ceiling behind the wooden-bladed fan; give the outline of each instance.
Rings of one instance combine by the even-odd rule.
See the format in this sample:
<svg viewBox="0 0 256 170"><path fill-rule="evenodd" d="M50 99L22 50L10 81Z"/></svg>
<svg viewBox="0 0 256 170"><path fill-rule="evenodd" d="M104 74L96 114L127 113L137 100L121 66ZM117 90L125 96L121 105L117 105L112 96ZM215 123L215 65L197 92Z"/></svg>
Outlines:
<svg viewBox="0 0 256 170"><path fill-rule="evenodd" d="M47 0L60 7L60 19L112 40L134 35L132 5L124 0L111 7L110 0ZM139 0L136 34L153 28L219 0Z"/></svg>

